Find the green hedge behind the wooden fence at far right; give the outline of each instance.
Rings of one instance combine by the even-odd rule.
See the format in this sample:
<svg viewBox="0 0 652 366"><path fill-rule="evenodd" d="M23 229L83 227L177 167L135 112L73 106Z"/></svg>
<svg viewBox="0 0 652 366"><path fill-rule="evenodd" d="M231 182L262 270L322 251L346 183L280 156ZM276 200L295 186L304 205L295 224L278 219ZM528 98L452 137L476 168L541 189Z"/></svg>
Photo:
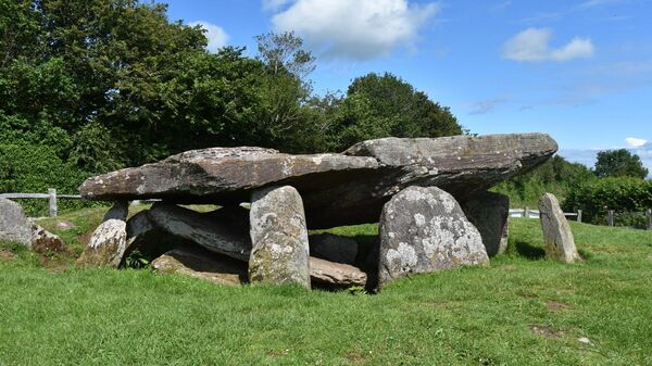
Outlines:
<svg viewBox="0 0 652 366"><path fill-rule="evenodd" d="M582 210L584 219L605 224L607 210L644 212L652 207L652 180L617 177L589 180L572 187L564 202L564 211ZM638 226L636 217L617 217L616 224Z"/></svg>

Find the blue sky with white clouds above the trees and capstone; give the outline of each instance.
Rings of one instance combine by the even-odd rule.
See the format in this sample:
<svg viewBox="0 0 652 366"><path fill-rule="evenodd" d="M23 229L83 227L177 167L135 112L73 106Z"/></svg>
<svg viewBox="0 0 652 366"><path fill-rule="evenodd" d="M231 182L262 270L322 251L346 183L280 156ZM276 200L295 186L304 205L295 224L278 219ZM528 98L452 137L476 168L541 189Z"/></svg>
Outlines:
<svg viewBox="0 0 652 366"><path fill-rule="evenodd" d="M294 30L315 90L393 73L476 134L542 131L593 164L629 148L652 171L652 0L170 0L210 49Z"/></svg>

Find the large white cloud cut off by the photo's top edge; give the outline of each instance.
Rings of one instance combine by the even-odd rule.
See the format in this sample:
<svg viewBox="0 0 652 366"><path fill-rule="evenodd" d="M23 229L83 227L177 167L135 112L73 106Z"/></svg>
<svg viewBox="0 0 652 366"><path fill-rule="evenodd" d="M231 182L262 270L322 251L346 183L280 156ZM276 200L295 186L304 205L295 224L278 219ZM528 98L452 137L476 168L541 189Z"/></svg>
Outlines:
<svg viewBox="0 0 652 366"><path fill-rule="evenodd" d="M272 23L276 30L296 31L327 58L369 60L398 47L414 48L418 28L438 10L436 3L408 0L292 0Z"/></svg>

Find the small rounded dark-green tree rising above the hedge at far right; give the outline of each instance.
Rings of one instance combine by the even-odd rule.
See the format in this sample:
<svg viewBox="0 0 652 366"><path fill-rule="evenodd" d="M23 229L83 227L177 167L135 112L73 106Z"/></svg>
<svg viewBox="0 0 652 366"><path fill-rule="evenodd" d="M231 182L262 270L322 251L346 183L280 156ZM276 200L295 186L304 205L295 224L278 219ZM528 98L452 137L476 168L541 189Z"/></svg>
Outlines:
<svg viewBox="0 0 652 366"><path fill-rule="evenodd" d="M637 177L645 178L648 169L641 159L627 149L601 151L595 162L595 175L605 177Z"/></svg>

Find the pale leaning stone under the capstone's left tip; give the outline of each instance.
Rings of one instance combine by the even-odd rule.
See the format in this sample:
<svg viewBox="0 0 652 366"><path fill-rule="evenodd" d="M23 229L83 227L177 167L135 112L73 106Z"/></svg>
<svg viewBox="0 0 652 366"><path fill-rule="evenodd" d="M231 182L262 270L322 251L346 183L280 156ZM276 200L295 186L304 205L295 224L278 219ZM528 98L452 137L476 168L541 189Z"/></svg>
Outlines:
<svg viewBox="0 0 652 366"><path fill-rule="evenodd" d="M93 231L77 263L117 268L126 247L126 223L121 219L108 219Z"/></svg>

